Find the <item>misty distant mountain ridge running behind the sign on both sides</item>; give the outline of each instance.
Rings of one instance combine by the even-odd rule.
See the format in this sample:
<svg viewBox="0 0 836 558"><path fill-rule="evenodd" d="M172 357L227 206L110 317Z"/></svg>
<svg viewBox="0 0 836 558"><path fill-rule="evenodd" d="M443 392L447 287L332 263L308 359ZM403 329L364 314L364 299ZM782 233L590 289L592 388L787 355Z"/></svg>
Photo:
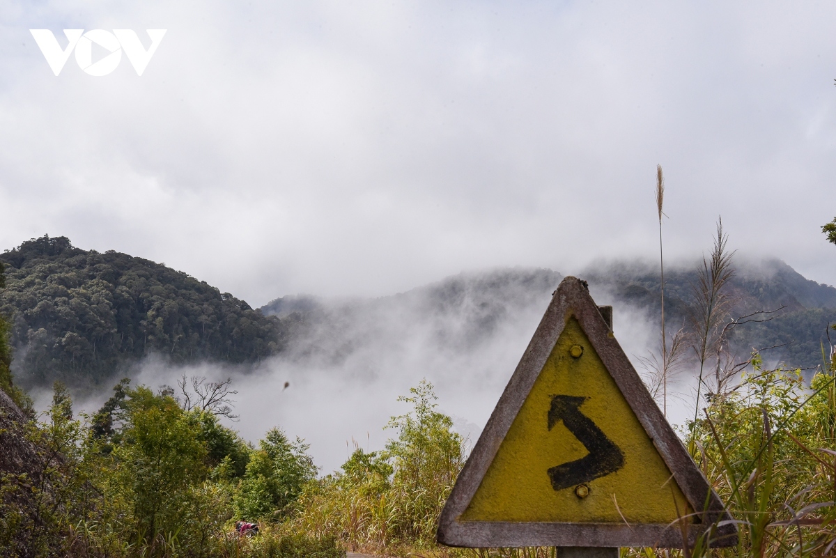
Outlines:
<svg viewBox="0 0 836 558"><path fill-rule="evenodd" d="M658 327L652 326L660 315L658 268L638 261L607 261L576 275L589 282L597 302L614 304L616 329L619 320L628 316L634 321L643 319L648 327ZM409 314L424 322L425 327L435 328L438 347L456 343L472 345L489 338L512 315L527 314L529 317L525 319L513 318L527 323L532 322L534 315L542 315L551 292L562 278L558 271L546 268L501 267L462 272L384 297L350 301L309 295L280 297L261 310L266 315L296 316L303 324L296 341L301 339L303 344L308 344L308 350L302 351L308 355L317 351L327 353L323 346L330 343L332 348L341 347L334 348L333 358L346 358L346 353L352 350L349 347L362 344L363 335L356 330L364 329L368 336L382 334L375 333L375 327L367 322L375 319L391 322L392 317L383 317L381 313L381 308L386 306L390 307L391 314ZM665 313L670 326L678 328L687 324L693 304L691 285L695 282L696 267L671 266L665 270ZM729 282L729 295L730 318L777 311L768 322L747 324L732 333L730 342L738 353L745 357L752 349L785 345L779 350L772 349L771 358L801 368L820 363L819 343L826 342L828 323L836 322L836 288L809 280L785 262L769 258L742 260ZM456 327L451 326L453 322ZM400 327L404 334L409 329L394 327Z"/></svg>

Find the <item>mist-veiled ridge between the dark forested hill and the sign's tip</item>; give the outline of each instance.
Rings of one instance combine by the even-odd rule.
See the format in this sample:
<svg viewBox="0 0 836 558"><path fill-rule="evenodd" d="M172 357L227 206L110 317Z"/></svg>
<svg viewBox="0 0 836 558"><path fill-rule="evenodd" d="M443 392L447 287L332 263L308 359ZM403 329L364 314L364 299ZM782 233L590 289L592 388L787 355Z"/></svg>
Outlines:
<svg viewBox="0 0 836 558"><path fill-rule="evenodd" d="M461 273L388 297L348 302L283 297L269 302L262 311L279 316L292 312L290 315L297 317L300 325L288 346L297 356L339 362L370 351L373 359L386 352L381 346L415 343L429 344L436 354L450 355L476 350L520 320L529 322L542 313L543 301L548 302L562 279L548 269Z"/></svg>

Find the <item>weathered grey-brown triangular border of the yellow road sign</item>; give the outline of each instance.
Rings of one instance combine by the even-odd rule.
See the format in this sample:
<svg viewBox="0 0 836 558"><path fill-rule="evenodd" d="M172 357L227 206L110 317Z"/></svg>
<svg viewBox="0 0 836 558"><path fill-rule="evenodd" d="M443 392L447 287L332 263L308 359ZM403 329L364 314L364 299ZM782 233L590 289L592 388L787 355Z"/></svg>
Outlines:
<svg viewBox="0 0 836 558"><path fill-rule="evenodd" d="M589 337L595 352L621 390L655 449L673 474L691 507L700 512L686 525L689 545L712 529L711 545L737 544L737 526L720 498L711 490L681 440L645 388L639 374L615 340L599 312L586 283L568 276L554 292L523 358L517 364L497 407L447 499L439 518L437 539L448 546L472 548L514 546L655 546L682 548L683 530L673 525L626 523L545 523L518 521L460 521L482 478L491 466L502 440L537 380L570 316ZM685 511L683 510L683 513ZM717 524L722 525L717 527Z"/></svg>

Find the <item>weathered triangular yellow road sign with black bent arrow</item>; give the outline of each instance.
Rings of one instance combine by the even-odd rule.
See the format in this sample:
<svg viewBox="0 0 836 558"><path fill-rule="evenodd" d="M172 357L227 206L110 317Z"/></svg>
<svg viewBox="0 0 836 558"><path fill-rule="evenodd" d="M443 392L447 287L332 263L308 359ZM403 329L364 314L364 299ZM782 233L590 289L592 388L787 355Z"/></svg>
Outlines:
<svg viewBox="0 0 836 558"><path fill-rule="evenodd" d="M615 340L611 312L585 282L560 283L456 479L440 543L737 544L732 518Z"/></svg>

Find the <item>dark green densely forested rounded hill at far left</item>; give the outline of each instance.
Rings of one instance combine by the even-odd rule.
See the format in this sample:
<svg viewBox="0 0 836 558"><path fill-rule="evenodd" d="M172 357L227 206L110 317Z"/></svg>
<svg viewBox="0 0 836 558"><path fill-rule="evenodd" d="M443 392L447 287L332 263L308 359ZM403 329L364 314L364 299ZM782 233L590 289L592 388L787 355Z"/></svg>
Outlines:
<svg viewBox="0 0 836 558"><path fill-rule="evenodd" d="M12 324L15 381L110 381L158 353L173 363L252 363L283 342L275 317L181 271L116 251L85 251L64 236L0 254Z"/></svg>

